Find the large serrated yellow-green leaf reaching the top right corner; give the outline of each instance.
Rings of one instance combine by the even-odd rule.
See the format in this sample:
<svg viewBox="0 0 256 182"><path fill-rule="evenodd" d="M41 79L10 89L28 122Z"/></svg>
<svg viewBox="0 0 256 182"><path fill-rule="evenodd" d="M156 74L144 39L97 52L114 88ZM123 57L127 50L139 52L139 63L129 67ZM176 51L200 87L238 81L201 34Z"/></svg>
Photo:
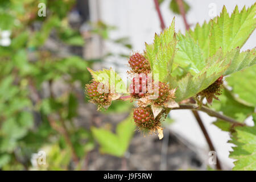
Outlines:
<svg viewBox="0 0 256 182"><path fill-rule="evenodd" d="M197 24L195 30L188 32L203 50L205 59L214 55L220 47L225 55L234 48L241 48L255 30L255 10L255 4L247 10L244 6L241 11L236 6L229 16L224 6L220 16L204 22L203 26Z"/></svg>

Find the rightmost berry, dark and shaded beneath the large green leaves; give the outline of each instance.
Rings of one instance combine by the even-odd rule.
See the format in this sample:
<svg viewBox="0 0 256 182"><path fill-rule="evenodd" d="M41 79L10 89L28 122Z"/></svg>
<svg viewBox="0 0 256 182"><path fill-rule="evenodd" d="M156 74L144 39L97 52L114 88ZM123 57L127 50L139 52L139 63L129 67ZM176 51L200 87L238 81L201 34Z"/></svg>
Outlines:
<svg viewBox="0 0 256 182"><path fill-rule="evenodd" d="M208 86L208 88L202 90L197 95L206 97L207 102L211 104L213 98L218 100L217 96L221 95L222 88L223 88L223 76L220 76L216 81L213 82L212 85Z"/></svg>

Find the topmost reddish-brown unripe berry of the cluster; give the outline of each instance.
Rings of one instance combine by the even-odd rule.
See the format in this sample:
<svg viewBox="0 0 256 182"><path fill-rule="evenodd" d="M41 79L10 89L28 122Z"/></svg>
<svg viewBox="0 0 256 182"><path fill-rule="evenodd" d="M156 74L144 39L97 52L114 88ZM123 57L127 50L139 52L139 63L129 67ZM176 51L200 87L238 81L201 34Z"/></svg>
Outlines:
<svg viewBox="0 0 256 182"><path fill-rule="evenodd" d="M135 53L130 57L129 64L134 73L150 72L150 63L139 53Z"/></svg>

